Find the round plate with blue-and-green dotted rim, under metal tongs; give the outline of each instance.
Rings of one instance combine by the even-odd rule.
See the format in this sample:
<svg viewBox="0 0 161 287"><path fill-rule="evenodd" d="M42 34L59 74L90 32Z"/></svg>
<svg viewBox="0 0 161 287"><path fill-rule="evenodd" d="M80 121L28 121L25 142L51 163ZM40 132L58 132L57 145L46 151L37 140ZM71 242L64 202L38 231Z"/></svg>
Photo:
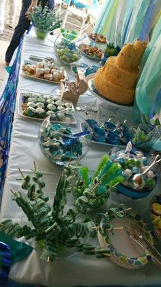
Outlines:
<svg viewBox="0 0 161 287"><path fill-rule="evenodd" d="M98 232L98 240L101 248L108 248L111 251L111 260L126 269L139 269L151 261L151 253L143 249L130 239L126 232L126 226L134 224L142 229L145 237L154 245L155 240L151 228L139 214L130 214L123 218L115 218L111 221L113 227L123 227L114 230L114 235L108 232L106 238ZM119 240L118 240L119 238Z"/></svg>

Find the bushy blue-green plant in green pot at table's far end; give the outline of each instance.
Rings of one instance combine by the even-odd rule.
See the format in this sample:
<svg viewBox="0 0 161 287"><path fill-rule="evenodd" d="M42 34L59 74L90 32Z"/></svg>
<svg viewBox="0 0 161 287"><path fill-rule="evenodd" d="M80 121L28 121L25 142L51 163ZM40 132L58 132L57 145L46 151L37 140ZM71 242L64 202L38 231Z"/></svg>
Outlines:
<svg viewBox="0 0 161 287"><path fill-rule="evenodd" d="M55 13L55 10L48 10L47 6L44 9L42 9L42 5L35 6L33 12L27 14L33 22L36 36L40 39L44 40L50 32L61 27L61 18Z"/></svg>

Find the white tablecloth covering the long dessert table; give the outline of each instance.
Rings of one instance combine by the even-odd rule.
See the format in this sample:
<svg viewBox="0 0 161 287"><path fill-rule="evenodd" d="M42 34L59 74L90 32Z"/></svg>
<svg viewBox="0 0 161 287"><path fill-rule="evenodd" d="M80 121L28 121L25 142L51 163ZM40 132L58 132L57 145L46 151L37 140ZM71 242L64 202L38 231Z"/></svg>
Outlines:
<svg viewBox="0 0 161 287"><path fill-rule="evenodd" d="M55 58L53 42L54 37L50 35L46 40L39 40L35 37L33 32L29 35L25 35L21 61L29 60L30 54ZM57 58L55 58L55 60L57 64L62 66ZM99 62L91 62L91 60L85 58L85 56L83 56L81 62L85 62L89 65L99 65ZM75 79L70 71L70 66L65 66L65 69L68 73L68 77L70 79ZM31 91L54 95L55 89L57 88L59 88L58 84L27 79L19 73L18 92ZM93 112L93 115L97 114L98 117L105 114L106 118L108 118L114 112L113 110L104 108L104 105L100 105L96 97L86 94L80 97L77 105L96 105L98 107L98 113ZM118 114L119 121L127 118L129 123L135 122L135 114L132 108L129 110L119 108L115 110L115 112ZM85 113L83 112L78 113L85 116ZM33 167L33 160L35 160L38 169L44 174L43 179L46 182L44 191L50 192L50 196L52 198L54 197L55 187L62 167L48 162L38 147L38 131L41 123L42 121L37 121L33 118L25 118L18 114L17 96L10 157L1 203L1 219L11 218L14 222L22 222L21 209L15 201L12 201L10 190L16 191L20 188L20 182L16 181L16 178L19 177L18 168L20 168L24 174L31 174L30 168ZM111 147L108 147L108 145L105 146L92 143L89 152L85 158L81 160L81 164L87 165L89 170L95 169L101 156L104 155L104 153L108 153L110 149ZM159 190L154 190L154 192L159 192ZM104 209L106 210L106 208L118 206L123 202L128 208L134 208L134 212L139 212L145 219L149 220L149 201L152 196L153 192L146 199L134 201L130 198L128 199L123 196L111 194ZM68 206L71 203L72 197L69 198ZM92 255L77 253L71 257L66 257L64 255L63 258L56 259L53 263L46 263L43 260L40 260L40 253L35 250L32 251L28 258L25 258L25 260L12 266L10 278L21 283L44 284L45 286L50 287L75 287L83 285L154 286L155 284L161 286L160 269L152 262L148 263L143 269L128 270L123 269L121 266L117 266L109 259L98 260Z"/></svg>

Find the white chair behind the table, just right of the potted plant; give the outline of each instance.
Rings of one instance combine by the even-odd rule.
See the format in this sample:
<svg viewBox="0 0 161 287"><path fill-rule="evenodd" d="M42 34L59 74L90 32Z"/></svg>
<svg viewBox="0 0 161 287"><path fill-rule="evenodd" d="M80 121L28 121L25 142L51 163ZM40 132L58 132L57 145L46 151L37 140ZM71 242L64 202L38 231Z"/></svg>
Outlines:
<svg viewBox="0 0 161 287"><path fill-rule="evenodd" d="M68 21L68 16L70 16L72 18L79 17L79 18L81 18L81 25L72 23L72 26L80 28L80 32L79 32L78 36L81 36L81 34L83 32L83 27L85 26L85 21L87 19L87 11L81 10L80 8L76 8L76 6L74 6L74 5L70 5L71 2L72 2L72 0L70 0L68 3L68 7L67 7L67 10L65 13L65 18L63 21L63 28L65 27L66 23L71 24L71 22Z"/></svg>

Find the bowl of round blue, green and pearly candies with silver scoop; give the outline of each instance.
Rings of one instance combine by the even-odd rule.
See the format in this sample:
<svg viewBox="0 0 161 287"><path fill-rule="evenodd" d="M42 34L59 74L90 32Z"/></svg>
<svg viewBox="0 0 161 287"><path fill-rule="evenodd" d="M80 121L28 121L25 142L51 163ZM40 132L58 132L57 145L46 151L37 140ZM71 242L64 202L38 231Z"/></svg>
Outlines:
<svg viewBox="0 0 161 287"><path fill-rule="evenodd" d="M125 153L121 149L113 149L110 158L121 165L122 176L125 178L121 184L117 185L117 192L134 199L141 199L147 197L156 187L156 173L152 166L143 164L142 159L145 160L145 155L141 151L132 154Z"/></svg>

